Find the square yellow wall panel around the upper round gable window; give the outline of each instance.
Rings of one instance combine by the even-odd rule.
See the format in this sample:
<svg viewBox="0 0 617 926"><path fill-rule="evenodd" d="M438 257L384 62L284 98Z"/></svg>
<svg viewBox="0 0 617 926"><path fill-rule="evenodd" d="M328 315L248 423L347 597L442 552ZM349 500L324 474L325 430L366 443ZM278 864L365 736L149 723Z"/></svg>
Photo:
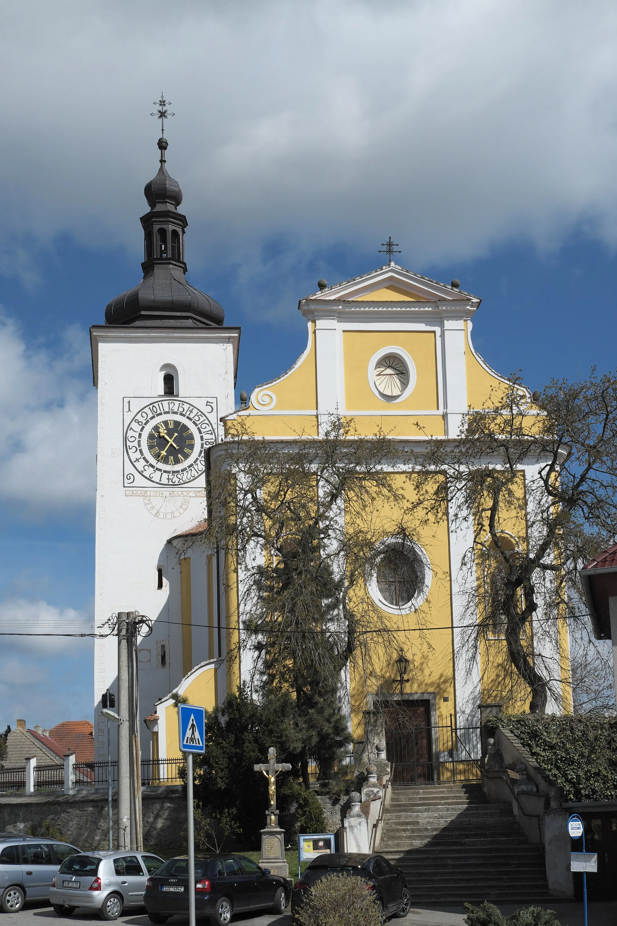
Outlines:
<svg viewBox="0 0 617 926"><path fill-rule="evenodd" d="M383 347L394 344L413 359L417 379L401 402L384 402L368 382L368 364ZM343 332L345 408L351 411L437 410L438 379L435 332Z"/></svg>

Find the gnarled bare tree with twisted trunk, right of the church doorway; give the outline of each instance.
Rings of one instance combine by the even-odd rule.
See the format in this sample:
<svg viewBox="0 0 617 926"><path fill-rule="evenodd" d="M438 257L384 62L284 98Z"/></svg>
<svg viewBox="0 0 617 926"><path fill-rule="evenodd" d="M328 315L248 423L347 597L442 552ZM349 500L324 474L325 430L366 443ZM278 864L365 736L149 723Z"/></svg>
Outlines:
<svg viewBox="0 0 617 926"><path fill-rule="evenodd" d="M431 516L468 533L468 660L486 647L497 685L544 713L570 681L558 622L586 619L577 570L617 536L617 374L552 380L533 401L513 375L455 440L412 456Z"/></svg>

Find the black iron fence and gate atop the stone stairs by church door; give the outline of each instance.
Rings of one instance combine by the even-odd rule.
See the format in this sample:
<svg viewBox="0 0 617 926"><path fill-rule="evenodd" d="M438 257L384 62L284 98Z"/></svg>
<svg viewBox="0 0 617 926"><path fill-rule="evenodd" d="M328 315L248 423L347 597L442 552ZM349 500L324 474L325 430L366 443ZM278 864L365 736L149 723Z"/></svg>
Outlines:
<svg viewBox="0 0 617 926"><path fill-rule="evenodd" d="M393 782L479 782L480 727L409 723L394 716L386 723L386 757Z"/></svg>

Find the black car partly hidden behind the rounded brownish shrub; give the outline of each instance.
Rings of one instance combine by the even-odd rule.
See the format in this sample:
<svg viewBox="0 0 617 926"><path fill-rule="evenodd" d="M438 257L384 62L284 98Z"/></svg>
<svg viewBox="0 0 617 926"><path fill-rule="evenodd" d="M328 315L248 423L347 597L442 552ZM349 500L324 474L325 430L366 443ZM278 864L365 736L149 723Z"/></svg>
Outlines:
<svg viewBox="0 0 617 926"><path fill-rule="evenodd" d="M314 858L300 881L293 885L291 913L294 918L302 907L304 897L320 878L337 874L352 874L372 885L384 917L392 914L406 917L410 895L401 869L393 869L383 856L365 856L360 853L331 853Z"/></svg>

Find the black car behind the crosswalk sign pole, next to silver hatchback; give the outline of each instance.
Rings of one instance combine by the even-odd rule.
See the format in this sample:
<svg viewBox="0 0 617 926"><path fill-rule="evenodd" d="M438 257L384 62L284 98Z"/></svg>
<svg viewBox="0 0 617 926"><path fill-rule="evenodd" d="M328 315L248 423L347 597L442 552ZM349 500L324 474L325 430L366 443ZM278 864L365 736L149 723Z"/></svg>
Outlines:
<svg viewBox="0 0 617 926"><path fill-rule="evenodd" d="M225 926L234 913L270 909L282 913L289 903L287 882L250 858L233 854L195 858L195 915ZM170 858L145 885L149 919L164 923L189 909L189 859Z"/></svg>

